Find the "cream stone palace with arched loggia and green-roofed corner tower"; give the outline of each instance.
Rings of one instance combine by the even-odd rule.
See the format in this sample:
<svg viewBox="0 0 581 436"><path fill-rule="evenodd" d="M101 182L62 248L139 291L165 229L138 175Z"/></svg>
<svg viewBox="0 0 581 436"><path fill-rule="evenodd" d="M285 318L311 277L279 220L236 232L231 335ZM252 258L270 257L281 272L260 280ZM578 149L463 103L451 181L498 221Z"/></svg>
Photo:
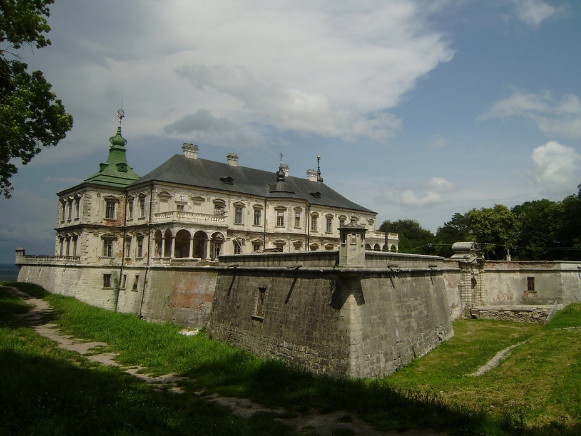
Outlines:
<svg viewBox="0 0 581 436"><path fill-rule="evenodd" d="M198 156L183 145L143 177L128 165L121 135L110 138L107 161L81 184L59 192L57 256L81 263L143 265L169 259L215 261L223 254L338 249L338 228L367 230L366 249L397 251L397 234L376 231L377 214L323 183ZM106 279L105 279L106 280Z"/></svg>

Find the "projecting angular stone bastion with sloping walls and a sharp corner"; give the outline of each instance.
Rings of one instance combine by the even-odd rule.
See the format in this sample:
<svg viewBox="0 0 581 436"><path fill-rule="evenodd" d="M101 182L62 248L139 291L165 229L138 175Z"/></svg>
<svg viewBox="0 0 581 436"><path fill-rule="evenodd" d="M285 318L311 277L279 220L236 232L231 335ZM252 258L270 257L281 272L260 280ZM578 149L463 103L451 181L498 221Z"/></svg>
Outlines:
<svg viewBox="0 0 581 436"><path fill-rule="evenodd" d="M314 254L221 257L210 335L313 372L354 377L392 373L453 335L441 258L386 271L338 267L332 257L329 266L309 266Z"/></svg>

